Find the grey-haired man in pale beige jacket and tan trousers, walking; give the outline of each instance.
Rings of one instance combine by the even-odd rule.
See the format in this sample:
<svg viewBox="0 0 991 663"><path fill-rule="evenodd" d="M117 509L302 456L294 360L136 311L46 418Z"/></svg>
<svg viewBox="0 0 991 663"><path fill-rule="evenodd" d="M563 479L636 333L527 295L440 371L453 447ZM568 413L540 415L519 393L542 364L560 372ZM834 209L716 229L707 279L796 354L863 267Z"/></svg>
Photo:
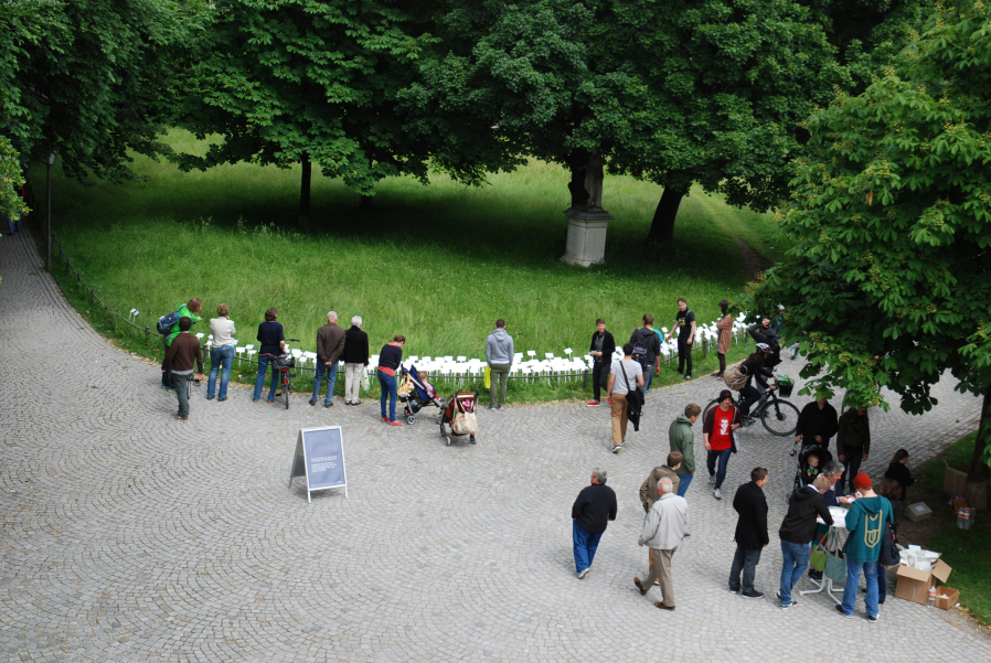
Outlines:
<svg viewBox="0 0 991 663"><path fill-rule="evenodd" d="M638 543L653 550L653 564L646 582L633 577L633 585L646 596L651 585L659 581L662 599L654 606L662 610L674 610L674 582L671 579L671 559L689 528L689 503L674 494L674 485L664 477L658 481L658 499L643 516Z"/></svg>

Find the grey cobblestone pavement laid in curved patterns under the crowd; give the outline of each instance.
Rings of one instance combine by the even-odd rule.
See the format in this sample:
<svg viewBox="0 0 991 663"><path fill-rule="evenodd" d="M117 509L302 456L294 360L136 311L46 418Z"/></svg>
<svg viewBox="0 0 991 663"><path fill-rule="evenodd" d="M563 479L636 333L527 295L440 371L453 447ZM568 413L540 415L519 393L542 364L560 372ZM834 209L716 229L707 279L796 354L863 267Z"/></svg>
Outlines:
<svg viewBox="0 0 991 663"><path fill-rule="evenodd" d="M793 466L788 442L757 427L722 501L704 477L689 490L678 610L653 608L657 589L637 594L637 489L673 416L717 394L712 378L650 394L617 456L608 409L578 404L482 411L479 443L449 448L426 423L382 425L372 403L324 410L300 396L287 411L243 388L217 403L199 387L180 423L158 368L95 333L25 237L0 239L0 274L2 660L991 660L959 616L894 597L870 625L862 601L844 620L821 595L788 611L729 595L732 498L758 464L771 472L772 545L757 586L777 589ZM872 413L869 472L899 446L917 462L974 426L973 398L937 391L926 416ZM350 499L307 504L301 480L287 488L297 430L335 423ZM619 516L578 580L569 507L594 467L608 470Z"/></svg>

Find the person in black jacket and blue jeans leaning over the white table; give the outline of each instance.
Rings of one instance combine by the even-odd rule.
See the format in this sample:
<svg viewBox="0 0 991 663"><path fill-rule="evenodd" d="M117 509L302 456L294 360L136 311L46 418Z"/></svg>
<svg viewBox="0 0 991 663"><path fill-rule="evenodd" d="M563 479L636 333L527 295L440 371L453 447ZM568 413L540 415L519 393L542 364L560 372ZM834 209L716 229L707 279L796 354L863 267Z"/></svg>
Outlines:
<svg viewBox="0 0 991 663"><path fill-rule="evenodd" d="M781 538L781 586L777 597L781 601L781 608L791 608L798 602L791 598L791 589L798 582L806 569L809 568L809 557L812 555L811 543L819 531L817 517L821 517L827 526L833 524L833 516L822 499L822 493L829 490L829 479L823 475L816 478L809 485L802 485L788 501L788 513L781 521L778 536Z"/></svg>

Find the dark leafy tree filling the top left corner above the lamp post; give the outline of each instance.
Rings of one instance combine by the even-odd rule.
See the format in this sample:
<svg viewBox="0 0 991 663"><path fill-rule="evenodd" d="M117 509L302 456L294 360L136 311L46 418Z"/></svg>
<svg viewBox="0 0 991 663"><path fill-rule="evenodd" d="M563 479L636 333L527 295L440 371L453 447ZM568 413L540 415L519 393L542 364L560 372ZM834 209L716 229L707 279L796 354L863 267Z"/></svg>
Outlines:
<svg viewBox="0 0 991 663"><path fill-rule="evenodd" d="M178 53L201 7L177 0L20 0L0 12L0 135L21 164L58 149L84 180L130 177L128 149L153 154L174 95Z"/></svg>

